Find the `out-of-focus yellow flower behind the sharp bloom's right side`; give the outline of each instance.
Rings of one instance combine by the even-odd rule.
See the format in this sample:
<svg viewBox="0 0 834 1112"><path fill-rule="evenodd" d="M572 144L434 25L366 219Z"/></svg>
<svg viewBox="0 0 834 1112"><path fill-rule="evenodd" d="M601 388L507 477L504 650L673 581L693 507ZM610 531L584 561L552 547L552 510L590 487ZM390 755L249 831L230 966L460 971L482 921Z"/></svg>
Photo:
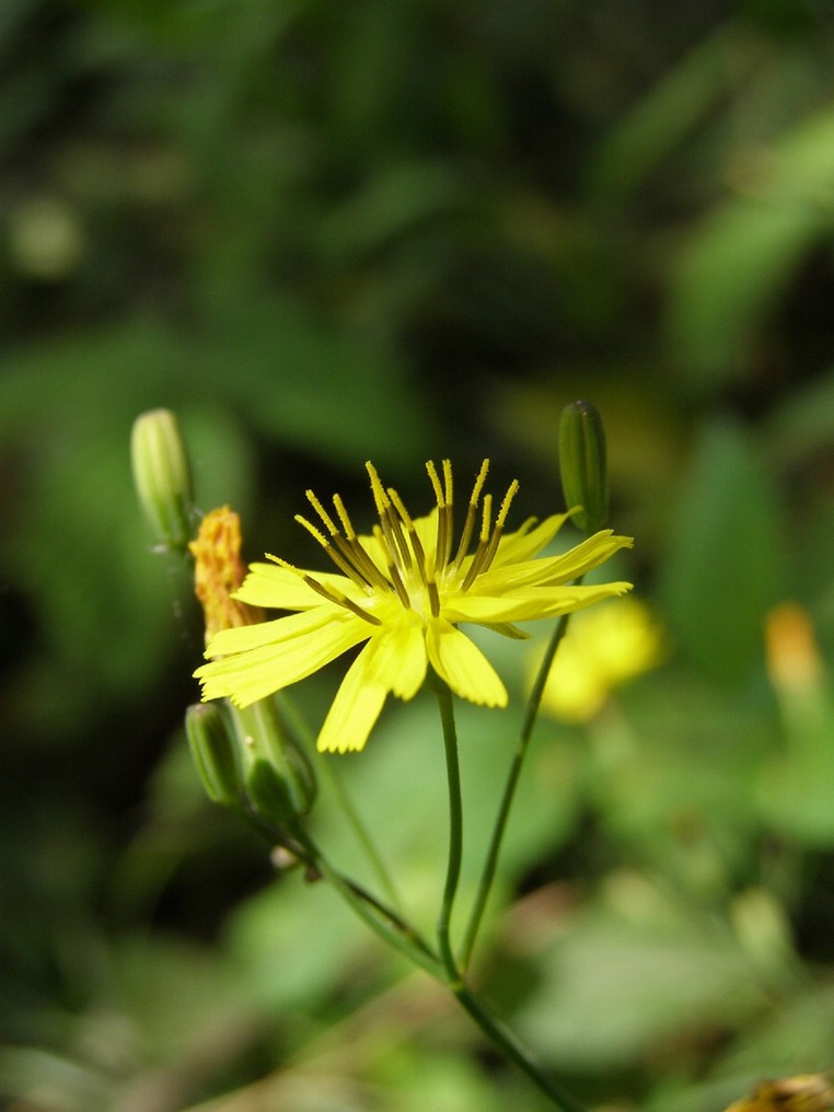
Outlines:
<svg viewBox="0 0 834 1112"><path fill-rule="evenodd" d="M655 667L664 652L661 628L643 603L624 598L617 606L599 606L570 623L542 708L565 722L587 722L612 688Z"/></svg>

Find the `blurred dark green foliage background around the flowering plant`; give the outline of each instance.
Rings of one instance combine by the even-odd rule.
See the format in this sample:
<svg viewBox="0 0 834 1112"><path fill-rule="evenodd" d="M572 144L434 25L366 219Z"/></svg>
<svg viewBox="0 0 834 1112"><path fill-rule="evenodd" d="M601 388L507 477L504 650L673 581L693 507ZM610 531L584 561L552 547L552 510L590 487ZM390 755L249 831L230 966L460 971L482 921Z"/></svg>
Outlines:
<svg viewBox="0 0 834 1112"><path fill-rule="evenodd" d="M543 1106L203 798L200 617L130 481L155 406L201 508L307 563L304 489L360 518L367 458L415 512L447 455L517 476L517 522L562 509L558 415L592 398L616 573L672 648L542 723L478 977L606 1112L834 1066L831 6L4 0L0 59L7 1105ZM780 686L787 599L820 655ZM495 649L509 711L461 713L476 843L524 653ZM430 701L339 771L430 926Z"/></svg>

